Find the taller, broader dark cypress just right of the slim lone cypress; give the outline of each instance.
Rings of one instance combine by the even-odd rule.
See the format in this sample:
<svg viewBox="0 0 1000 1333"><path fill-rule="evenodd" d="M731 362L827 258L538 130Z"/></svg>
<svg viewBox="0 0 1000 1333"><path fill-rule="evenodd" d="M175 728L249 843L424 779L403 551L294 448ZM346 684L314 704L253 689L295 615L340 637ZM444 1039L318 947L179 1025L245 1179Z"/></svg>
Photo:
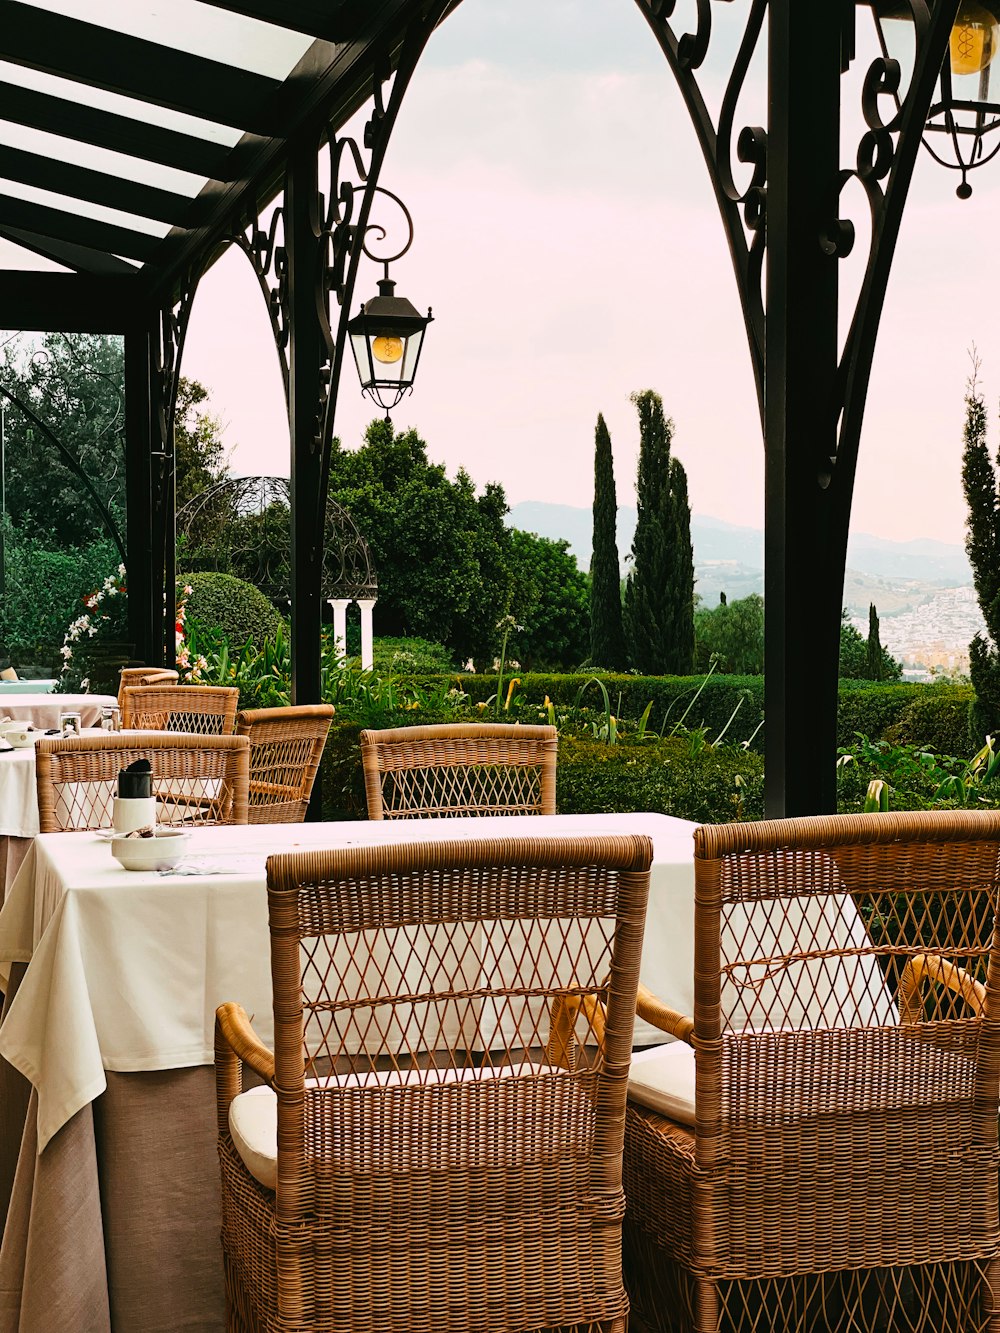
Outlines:
<svg viewBox="0 0 1000 1333"><path fill-rule="evenodd" d="M695 659L695 556L688 479L672 457L673 421L659 393L632 397L639 411L639 519L625 584L625 640L647 676L691 672Z"/></svg>

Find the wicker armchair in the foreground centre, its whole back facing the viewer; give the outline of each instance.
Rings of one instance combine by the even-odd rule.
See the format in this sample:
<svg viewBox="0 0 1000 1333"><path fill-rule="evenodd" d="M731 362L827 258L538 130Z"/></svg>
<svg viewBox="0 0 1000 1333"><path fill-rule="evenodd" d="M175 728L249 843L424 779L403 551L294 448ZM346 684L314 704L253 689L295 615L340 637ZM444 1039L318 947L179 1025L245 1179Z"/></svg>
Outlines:
<svg viewBox="0 0 1000 1333"><path fill-rule="evenodd" d="M275 1053L239 1005L216 1024L229 1329L624 1330L651 854L608 836L271 857ZM604 1060L560 1069L548 998L595 982ZM237 1097L244 1064L267 1086Z"/></svg>

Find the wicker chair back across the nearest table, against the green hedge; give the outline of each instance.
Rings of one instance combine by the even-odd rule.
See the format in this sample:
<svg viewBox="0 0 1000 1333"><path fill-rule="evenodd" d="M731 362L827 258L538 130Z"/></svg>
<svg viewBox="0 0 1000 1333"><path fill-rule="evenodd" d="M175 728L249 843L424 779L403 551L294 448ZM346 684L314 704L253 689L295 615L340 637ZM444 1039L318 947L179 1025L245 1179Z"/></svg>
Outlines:
<svg viewBox="0 0 1000 1333"><path fill-rule="evenodd" d="M361 732L369 820L555 814L555 726L472 722Z"/></svg>

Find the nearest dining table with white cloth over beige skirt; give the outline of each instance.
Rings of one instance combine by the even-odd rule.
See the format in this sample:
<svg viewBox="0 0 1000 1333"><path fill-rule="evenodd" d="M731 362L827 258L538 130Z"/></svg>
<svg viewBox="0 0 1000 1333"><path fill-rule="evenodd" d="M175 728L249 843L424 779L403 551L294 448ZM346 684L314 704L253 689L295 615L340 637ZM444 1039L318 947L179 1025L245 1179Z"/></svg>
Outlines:
<svg viewBox="0 0 1000 1333"><path fill-rule="evenodd" d="M96 833L36 837L0 910L0 1333L224 1328L215 1010L237 1001L272 1041L271 853L645 833L640 978L689 1013L695 828L652 813L195 828L167 873L124 870ZM863 933L849 898L821 910L847 946Z"/></svg>

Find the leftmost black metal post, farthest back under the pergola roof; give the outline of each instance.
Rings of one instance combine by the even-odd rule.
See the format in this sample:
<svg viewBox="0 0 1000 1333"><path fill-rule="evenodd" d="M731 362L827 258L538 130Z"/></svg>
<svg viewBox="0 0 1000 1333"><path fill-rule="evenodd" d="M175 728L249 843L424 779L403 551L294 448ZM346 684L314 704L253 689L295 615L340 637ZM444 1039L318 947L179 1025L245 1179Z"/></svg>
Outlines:
<svg viewBox="0 0 1000 1333"><path fill-rule="evenodd" d="M156 653L157 587L153 580L152 473L151 473L151 332L125 332L125 516L128 543L128 633L136 657L151 665Z"/></svg>

